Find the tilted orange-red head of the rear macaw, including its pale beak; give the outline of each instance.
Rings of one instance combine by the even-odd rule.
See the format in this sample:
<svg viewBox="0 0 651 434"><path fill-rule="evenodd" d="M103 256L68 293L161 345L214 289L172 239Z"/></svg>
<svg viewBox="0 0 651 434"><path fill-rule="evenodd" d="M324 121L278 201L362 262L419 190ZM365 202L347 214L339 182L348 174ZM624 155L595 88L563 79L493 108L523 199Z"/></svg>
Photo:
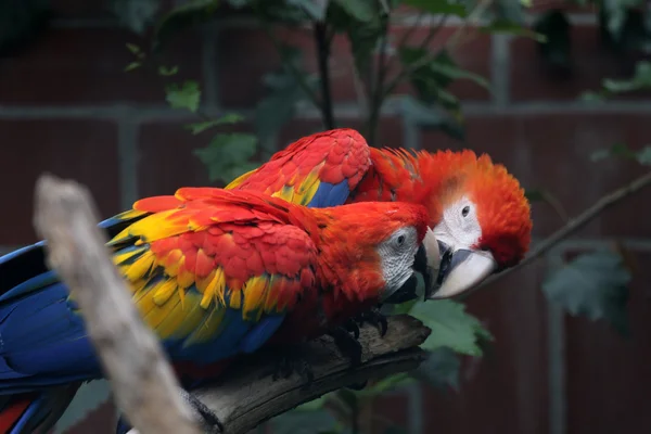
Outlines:
<svg viewBox="0 0 651 434"><path fill-rule="evenodd" d="M459 295L516 265L528 250L533 224L524 189L488 155L477 157L472 151L429 155L445 168L436 204L430 206L431 215L437 213L433 230L441 271L439 286L427 297L437 299Z"/></svg>

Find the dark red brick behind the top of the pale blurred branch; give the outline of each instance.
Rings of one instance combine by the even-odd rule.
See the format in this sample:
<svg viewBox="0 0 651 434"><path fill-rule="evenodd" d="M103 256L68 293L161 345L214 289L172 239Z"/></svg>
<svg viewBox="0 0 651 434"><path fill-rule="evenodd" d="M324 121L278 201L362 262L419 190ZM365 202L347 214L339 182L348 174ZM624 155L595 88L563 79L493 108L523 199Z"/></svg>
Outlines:
<svg viewBox="0 0 651 434"><path fill-rule="evenodd" d="M88 186L101 215L119 212L117 131L95 120L0 122L4 216L0 244L34 242L31 225L36 179L49 171Z"/></svg>

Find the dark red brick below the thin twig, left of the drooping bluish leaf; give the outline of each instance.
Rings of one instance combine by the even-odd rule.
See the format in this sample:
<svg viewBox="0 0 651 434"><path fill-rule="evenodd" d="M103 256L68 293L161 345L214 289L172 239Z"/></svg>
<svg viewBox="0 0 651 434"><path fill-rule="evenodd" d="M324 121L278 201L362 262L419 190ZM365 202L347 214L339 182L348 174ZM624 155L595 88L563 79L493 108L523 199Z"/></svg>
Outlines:
<svg viewBox="0 0 651 434"><path fill-rule="evenodd" d="M542 277L542 264L532 264L471 295L468 310L495 342L482 358L463 361L458 393L425 387L424 432L548 432Z"/></svg>

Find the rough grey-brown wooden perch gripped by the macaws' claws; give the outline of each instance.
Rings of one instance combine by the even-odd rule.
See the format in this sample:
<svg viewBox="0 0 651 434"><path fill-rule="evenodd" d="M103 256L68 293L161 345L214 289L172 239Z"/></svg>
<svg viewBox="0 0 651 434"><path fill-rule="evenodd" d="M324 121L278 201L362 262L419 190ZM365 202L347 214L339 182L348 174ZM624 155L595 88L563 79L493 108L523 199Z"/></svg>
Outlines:
<svg viewBox="0 0 651 434"><path fill-rule="evenodd" d="M418 346L430 332L413 317L393 316L388 318L384 337L380 337L372 326L360 329L363 353L362 362L356 368L350 368L349 359L336 349L330 337L299 346L315 375L308 388L297 374L273 381L272 369L282 354L266 350L229 369L224 380L192 393L224 422L225 434L244 434L267 419L328 392L418 368L425 358Z"/></svg>

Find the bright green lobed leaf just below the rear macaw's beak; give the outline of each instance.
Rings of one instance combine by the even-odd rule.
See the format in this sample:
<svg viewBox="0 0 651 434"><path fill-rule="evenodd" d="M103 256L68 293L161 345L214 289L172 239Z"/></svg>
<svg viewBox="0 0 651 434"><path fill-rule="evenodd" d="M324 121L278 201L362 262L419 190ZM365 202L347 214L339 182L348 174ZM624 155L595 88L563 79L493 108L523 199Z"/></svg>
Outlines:
<svg viewBox="0 0 651 434"><path fill-rule="evenodd" d="M422 348L434 350L449 347L457 353L481 356L477 345L481 339L493 340L492 334L472 315L465 312L465 306L449 299L419 302L409 315L423 321L432 329Z"/></svg>

